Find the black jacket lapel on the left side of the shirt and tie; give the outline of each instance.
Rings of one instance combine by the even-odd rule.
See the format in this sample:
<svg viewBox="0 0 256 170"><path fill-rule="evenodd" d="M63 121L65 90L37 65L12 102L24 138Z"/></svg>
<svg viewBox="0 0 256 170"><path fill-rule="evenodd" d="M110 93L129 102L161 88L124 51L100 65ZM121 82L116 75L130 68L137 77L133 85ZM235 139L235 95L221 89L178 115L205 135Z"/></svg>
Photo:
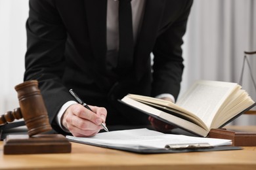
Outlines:
<svg viewBox="0 0 256 170"><path fill-rule="evenodd" d="M85 10L93 54L104 71L106 60L106 10L107 0L86 0ZM102 70L103 69L103 70Z"/></svg>

